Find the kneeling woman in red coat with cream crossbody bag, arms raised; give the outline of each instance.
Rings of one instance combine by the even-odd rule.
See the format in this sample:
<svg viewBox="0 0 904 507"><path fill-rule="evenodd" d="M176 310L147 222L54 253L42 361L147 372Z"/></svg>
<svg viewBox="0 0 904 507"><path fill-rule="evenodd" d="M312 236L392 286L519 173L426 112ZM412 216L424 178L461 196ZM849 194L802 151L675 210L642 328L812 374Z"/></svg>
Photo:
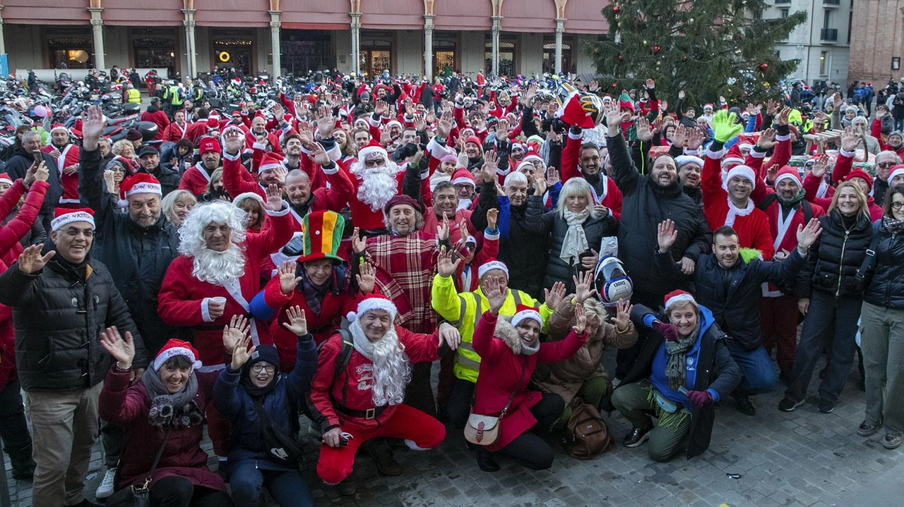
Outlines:
<svg viewBox="0 0 904 507"><path fill-rule="evenodd" d="M579 306L573 332L559 342L541 344L540 313L518 305L511 321L499 318L507 291L494 277L489 278L488 286L484 295L490 309L480 318L472 344L480 355L481 367L471 411L496 417L505 413L499 422L499 438L477 450L477 465L485 472L495 472L499 466L493 455L500 454L532 470L543 470L552 466L552 449L541 435L559 419L565 402L558 394L525 392L524 388L537 361L555 363L578 352L587 341L587 318Z"/></svg>

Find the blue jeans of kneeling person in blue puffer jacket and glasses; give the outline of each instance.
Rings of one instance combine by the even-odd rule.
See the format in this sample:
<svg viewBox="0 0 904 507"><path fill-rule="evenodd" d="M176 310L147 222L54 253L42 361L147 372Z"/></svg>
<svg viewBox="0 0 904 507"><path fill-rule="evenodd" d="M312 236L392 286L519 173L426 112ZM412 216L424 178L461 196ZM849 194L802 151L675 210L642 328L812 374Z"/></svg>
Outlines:
<svg viewBox="0 0 904 507"><path fill-rule="evenodd" d="M255 460L248 459L231 466L230 485L236 505L257 505L263 487L267 488L279 507L314 505L300 472L260 470L255 464Z"/></svg>

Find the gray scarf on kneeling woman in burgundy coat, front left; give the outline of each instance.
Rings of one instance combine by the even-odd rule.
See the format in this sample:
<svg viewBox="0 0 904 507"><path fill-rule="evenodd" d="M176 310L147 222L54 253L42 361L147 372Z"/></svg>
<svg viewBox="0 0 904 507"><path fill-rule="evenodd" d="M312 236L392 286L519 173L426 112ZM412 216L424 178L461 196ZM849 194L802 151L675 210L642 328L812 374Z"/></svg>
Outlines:
<svg viewBox="0 0 904 507"><path fill-rule="evenodd" d="M188 383L180 392L170 394L153 367L147 368L141 376L147 395L151 398L151 408L147 417L152 426L164 427L172 421L175 428L188 428L204 422L204 414L194 402L198 392L198 377L192 372Z"/></svg>

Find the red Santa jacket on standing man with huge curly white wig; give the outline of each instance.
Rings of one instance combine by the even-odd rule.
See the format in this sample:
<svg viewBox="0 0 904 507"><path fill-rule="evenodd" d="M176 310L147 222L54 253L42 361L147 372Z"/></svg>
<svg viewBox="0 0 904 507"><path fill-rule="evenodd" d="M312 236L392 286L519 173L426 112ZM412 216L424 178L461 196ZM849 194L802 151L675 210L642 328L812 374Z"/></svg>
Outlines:
<svg viewBox="0 0 904 507"><path fill-rule="evenodd" d="M245 254L245 271L239 279L239 291L244 299L239 301L226 287L208 281L199 281L192 275L193 258L180 255L170 263L160 293L157 296L157 313L170 326L192 327L193 345L201 354L203 364L215 364L220 369L228 358L223 356L222 330L234 315L248 315L249 304L260 288L260 263L270 252L286 244L292 237L292 218L288 209L269 212L272 226L264 227L259 234L246 233L240 244ZM207 304L211 298L226 298L226 308L220 318L211 318ZM244 303L244 304L242 304ZM266 322L255 319L257 337L251 341L269 345ZM207 368L207 366L205 366Z"/></svg>

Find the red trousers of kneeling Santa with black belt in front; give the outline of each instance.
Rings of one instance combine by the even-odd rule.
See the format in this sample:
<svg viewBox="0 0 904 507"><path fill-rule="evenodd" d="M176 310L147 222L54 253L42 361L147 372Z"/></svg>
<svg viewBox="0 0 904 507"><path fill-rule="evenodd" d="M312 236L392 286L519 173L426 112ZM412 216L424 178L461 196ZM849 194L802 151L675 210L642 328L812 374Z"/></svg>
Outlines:
<svg viewBox="0 0 904 507"><path fill-rule="evenodd" d="M346 422L342 430L350 433L345 447L320 447L320 458L317 460L317 475L326 484L341 483L352 473L354 453L358 447L371 438L406 438L422 449L437 447L446 438L446 427L437 419L424 412L401 404L377 429L357 428L353 421Z"/></svg>

